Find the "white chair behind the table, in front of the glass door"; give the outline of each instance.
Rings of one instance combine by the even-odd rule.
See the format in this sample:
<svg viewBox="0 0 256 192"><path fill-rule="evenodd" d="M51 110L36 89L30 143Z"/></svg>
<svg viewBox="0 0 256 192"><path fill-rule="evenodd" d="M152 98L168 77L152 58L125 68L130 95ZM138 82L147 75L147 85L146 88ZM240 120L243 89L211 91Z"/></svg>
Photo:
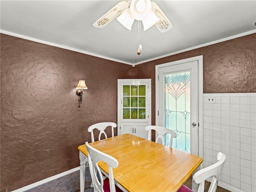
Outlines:
<svg viewBox="0 0 256 192"><path fill-rule="evenodd" d="M169 147L172 147L172 138L176 138L176 133L173 130L170 130L166 127L149 125L146 126L146 131L148 131L148 140L151 141L151 132L155 130L158 133L158 137L156 138L156 142L159 143L159 140L162 140L162 144L164 144L164 135L170 134Z"/></svg>

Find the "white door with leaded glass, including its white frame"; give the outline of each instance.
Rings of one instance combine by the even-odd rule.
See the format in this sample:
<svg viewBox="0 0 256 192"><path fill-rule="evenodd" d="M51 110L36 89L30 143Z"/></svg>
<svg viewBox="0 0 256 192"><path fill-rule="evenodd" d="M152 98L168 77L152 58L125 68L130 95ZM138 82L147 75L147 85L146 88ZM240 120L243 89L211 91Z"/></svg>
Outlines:
<svg viewBox="0 0 256 192"><path fill-rule="evenodd" d="M173 148L202 155L202 56L157 65L156 78L156 124L176 132Z"/></svg>

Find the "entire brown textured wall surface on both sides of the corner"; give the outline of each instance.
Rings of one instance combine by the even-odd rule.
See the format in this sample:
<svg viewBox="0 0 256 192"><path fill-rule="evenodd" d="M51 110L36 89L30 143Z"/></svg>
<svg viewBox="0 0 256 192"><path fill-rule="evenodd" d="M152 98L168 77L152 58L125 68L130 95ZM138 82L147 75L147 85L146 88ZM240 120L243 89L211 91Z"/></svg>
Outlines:
<svg viewBox="0 0 256 192"><path fill-rule="evenodd" d="M1 192L79 166L86 128L116 122L118 78L152 78L154 125L156 65L203 55L204 93L256 92L255 47L252 34L132 67L1 34Z"/></svg>

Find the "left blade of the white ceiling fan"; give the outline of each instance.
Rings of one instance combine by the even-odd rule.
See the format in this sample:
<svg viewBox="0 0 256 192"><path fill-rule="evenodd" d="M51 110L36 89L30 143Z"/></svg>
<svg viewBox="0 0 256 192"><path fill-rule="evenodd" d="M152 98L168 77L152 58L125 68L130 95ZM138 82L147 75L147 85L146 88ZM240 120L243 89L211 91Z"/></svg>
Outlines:
<svg viewBox="0 0 256 192"><path fill-rule="evenodd" d="M114 6L111 10L109 10L104 16L102 16L99 20L97 20L93 26L94 27L104 27L118 15L120 15L124 10L129 7L129 3L127 1L121 1L116 6Z"/></svg>

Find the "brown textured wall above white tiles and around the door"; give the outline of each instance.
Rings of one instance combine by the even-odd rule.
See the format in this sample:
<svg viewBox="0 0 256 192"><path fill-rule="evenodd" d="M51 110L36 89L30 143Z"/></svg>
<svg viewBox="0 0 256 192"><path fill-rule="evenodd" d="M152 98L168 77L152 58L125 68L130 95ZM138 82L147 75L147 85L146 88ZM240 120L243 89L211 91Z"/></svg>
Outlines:
<svg viewBox="0 0 256 192"><path fill-rule="evenodd" d="M135 78L152 78L152 125L156 122L155 66L199 55L203 55L204 93L256 92L256 34L136 65Z"/></svg>

